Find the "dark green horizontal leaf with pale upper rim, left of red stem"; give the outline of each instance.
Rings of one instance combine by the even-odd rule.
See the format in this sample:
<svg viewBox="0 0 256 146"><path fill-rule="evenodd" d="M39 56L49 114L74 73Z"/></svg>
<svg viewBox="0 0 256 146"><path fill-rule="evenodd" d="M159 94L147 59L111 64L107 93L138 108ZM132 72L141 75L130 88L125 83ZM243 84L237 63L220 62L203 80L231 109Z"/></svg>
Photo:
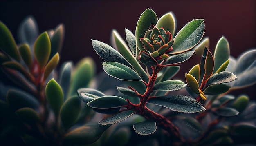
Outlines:
<svg viewBox="0 0 256 146"><path fill-rule="evenodd" d="M99 109L118 108L127 104L128 102L124 98L118 96L102 96L87 103L88 106Z"/></svg>

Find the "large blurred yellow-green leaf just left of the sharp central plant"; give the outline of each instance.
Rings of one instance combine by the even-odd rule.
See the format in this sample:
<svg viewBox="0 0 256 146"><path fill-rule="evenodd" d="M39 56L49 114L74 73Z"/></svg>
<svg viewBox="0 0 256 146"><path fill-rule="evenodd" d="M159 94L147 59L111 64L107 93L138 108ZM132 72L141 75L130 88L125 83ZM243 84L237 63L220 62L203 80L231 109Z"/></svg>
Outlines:
<svg viewBox="0 0 256 146"><path fill-rule="evenodd" d="M74 68L70 81L68 97L77 94L77 89L89 86L95 75L95 62L90 57L81 59Z"/></svg>

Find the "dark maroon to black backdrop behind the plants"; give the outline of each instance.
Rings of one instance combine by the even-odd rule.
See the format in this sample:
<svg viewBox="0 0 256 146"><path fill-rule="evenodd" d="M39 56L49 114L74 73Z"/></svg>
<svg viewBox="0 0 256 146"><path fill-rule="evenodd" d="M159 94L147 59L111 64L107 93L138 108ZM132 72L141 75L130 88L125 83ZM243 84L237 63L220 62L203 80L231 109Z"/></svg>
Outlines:
<svg viewBox="0 0 256 146"><path fill-rule="evenodd" d="M112 29L124 38L125 28L135 33L141 13L153 9L160 18L173 11L177 18L178 32L193 19L205 19L205 34L210 39L213 52L218 40L224 35L229 41L231 55L235 58L247 49L256 47L256 0L107 0L107 1L0 1L0 21L4 22L14 38L17 28L28 15L36 19L40 33L54 29L58 24L65 25L65 40L60 64L91 56L97 63L97 71L102 70L102 60L94 52L91 39L110 44ZM184 73L198 64L190 59L179 72ZM249 89L249 90L248 90ZM256 86L236 93L248 93L255 98Z"/></svg>

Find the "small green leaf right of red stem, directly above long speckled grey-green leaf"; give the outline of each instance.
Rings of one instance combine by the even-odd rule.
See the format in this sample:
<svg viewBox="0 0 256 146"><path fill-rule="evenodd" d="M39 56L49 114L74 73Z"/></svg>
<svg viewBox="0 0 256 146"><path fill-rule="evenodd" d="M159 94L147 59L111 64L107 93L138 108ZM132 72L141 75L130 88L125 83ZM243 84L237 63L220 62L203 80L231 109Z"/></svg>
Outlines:
<svg viewBox="0 0 256 146"><path fill-rule="evenodd" d="M152 91L176 91L185 87L186 84L180 80L167 80L155 84Z"/></svg>

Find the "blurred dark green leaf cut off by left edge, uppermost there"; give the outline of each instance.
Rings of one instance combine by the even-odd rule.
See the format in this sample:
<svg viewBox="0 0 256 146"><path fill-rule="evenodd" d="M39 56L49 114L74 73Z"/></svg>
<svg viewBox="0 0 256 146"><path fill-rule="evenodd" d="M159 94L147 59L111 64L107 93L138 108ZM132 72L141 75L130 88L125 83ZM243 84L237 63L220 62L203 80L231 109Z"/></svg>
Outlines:
<svg viewBox="0 0 256 146"><path fill-rule="evenodd" d="M9 56L20 61L17 45L9 29L0 21L0 49Z"/></svg>

